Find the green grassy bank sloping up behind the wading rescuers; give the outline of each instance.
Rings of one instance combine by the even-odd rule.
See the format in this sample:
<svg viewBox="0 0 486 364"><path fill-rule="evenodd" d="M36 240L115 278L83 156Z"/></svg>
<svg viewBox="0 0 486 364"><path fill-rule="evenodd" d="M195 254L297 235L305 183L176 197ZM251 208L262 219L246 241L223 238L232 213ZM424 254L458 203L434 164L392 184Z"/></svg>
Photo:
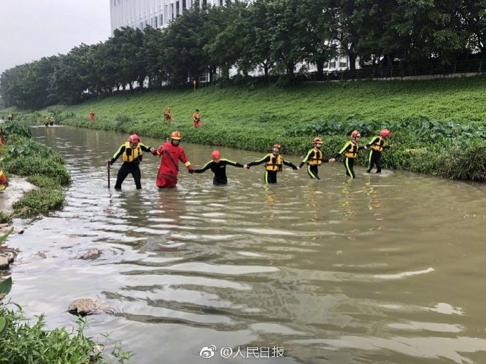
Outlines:
<svg viewBox="0 0 486 364"><path fill-rule="evenodd" d="M361 143L380 129L392 130L398 169L447 178L484 181L486 77L423 81L368 81L277 86L212 86L196 91L118 94L81 105L56 105L15 115L127 134L166 138L178 129L185 141L266 151L280 143L288 154L302 155L311 138L323 136L332 156L358 129ZM173 124L163 122L170 106ZM203 127L192 128L194 109ZM89 110L96 122L89 122ZM4 110L18 114L15 110ZM366 164L362 152L360 164ZM386 157L385 161L390 161ZM391 167L390 164L385 167Z"/></svg>

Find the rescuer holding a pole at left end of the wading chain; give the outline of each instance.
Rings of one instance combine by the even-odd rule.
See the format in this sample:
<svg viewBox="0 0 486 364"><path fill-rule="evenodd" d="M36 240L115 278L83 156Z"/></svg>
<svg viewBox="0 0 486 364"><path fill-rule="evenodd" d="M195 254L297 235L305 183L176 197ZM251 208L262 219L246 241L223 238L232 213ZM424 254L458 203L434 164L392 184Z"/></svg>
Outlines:
<svg viewBox="0 0 486 364"><path fill-rule="evenodd" d="M142 162L142 152L151 152L154 154L155 149L153 147L143 145L140 143L140 137L137 136L137 134L132 134L128 138L128 141L120 145L120 148L118 148L111 160L108 161L108 168L110 168L113 163L118 160L120 155L122 157L123 163L116 176L116 190L121 190L121 185L123 181L125 181L125 178L127 178L128 174L132 174L137 190L142 188L142 174L140 173L139 167L140 162Z"/></svg>

